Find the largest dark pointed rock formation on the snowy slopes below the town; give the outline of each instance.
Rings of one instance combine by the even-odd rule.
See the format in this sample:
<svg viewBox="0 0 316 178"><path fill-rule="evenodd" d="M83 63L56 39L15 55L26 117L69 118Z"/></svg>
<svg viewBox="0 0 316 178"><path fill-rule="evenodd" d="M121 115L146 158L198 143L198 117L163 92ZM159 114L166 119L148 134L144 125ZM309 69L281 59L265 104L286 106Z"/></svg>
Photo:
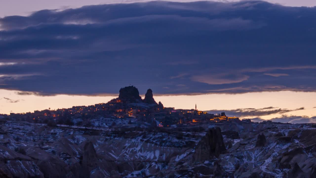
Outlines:
<svg viewBox="0 0 316 178"><path fill-rule="evenodd" d="M213 156L218 157L225 151L221 129L219 127L211 128L197 144L193 159L195 162L203 162Z"/></svg>

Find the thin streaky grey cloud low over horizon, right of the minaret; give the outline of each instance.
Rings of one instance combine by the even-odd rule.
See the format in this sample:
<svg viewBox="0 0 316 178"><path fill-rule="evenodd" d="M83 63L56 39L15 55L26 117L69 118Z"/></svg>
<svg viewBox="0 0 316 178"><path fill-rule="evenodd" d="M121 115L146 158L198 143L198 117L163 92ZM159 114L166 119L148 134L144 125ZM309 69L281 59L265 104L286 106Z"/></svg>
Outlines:
<svg viewBox="0 0 316 178"><path fill-rule="evenodd" d="M240 108L240 109L234 109L234 110L210 110L206 111L208 113L221 113L225 112L228 116L236 116L241 118L247 118L247 117L260 117L260 116L266 116L271 114L284 114L291 111L299 111L304 110L304 107L297 108L297 109L282 109L277 107L265 107L265 108Z"/></svg>

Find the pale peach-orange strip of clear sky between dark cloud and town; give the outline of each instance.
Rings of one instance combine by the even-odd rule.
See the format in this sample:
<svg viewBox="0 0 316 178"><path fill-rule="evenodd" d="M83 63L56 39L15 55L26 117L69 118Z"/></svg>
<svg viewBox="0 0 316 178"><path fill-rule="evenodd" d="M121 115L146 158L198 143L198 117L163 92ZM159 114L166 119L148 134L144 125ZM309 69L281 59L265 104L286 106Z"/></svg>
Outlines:
<svg viewBox="0 0 316 178"><path fill-rule="evenodd" d="M52 108L71 108L72 106L88 106L96 103L106 103L118 96L76 96L76 95L56 95L56 96L35 96L18 95L18 91L0 89L0 114L26 113L35 110L45 110ZM3 97L20 100L17 103L9 103L1 100ZM175 109L194 109L195 103L199 105L200 111L208 110L234 110L239 108L265 108L279 107L289 110L305 107L304 110L295 110L286 113L287 115L313 117L316 113L316 92L253 92L242 94L204 94L204 95L169 95L155 96L156 101L167 107ZM216 101L216 102L210 102ZM233 102L227 102L233 101ZM78 110L78 109L77 109ZM189 111L190 112L190 111ZM215 114L215 113L214 113ZM144 115L145 116L145 115ZM261 116L263 119L282 117L281 114L271 114ZM245 116L244 118L252 118ZM240 119L243 119L240 117Z"/></svg>

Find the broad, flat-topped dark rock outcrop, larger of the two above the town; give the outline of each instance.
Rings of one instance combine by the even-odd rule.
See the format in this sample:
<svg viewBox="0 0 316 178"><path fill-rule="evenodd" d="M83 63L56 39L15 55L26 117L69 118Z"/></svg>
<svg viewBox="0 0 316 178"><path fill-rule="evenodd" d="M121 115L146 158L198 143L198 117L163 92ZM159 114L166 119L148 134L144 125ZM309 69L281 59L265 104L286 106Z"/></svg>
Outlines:
<svg viewBox="0 0 316 178"><path fill-rule="evenodd" d="M119 99L135 103L141 101L142 97L139 96L138 89L135 86L126 86L119 90Z"/></svg>

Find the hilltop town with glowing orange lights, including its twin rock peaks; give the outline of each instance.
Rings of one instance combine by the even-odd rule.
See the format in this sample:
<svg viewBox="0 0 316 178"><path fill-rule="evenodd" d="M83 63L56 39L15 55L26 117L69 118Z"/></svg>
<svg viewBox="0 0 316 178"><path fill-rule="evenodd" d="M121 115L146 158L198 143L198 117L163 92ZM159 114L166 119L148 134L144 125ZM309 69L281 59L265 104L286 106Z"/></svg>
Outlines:
<svg viewBox="0 0 316 178"><path fill-rule="evenodd" d="M153 98L153 92L148 89L145 98L139 96L135 86L127 86L119 90L119 97L107 103L89 106L73 106L68 109L34 111L33 113L10 113L3 118L16 121L35 123L90 125L95 118L127 118L137 119L156 124L158 127L177 127L203 123L251 123L250 119L240 120L228 117L225 112L210 114L195 109L174 109L164 107Z"/></svg>

